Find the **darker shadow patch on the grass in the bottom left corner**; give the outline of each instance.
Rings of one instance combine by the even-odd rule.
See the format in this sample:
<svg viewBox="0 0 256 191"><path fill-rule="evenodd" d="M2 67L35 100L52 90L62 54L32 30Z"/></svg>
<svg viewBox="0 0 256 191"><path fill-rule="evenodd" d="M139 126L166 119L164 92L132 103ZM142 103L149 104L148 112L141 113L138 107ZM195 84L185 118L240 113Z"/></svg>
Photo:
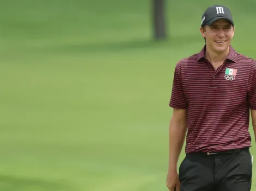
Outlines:
<svg viewBox="0 0 256 191"><path fill-rule="evenodd" d="M0 190L3 191L75 191L62 182L50 182L10 175L0 175Z"/></svg>

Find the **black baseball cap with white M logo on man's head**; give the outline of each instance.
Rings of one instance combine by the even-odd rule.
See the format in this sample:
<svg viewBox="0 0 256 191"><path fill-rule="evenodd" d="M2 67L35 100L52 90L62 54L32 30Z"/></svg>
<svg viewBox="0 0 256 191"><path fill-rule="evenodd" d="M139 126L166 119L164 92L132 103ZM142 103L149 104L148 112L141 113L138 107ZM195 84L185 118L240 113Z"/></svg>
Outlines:
<svg viewBox="0 0 256 191"><path fill-rule="evenodd" d="M201 27L210 25L220 18L229 20L234 26L230 9L223 5L213 5L205 10L201 20Z"/></svg>

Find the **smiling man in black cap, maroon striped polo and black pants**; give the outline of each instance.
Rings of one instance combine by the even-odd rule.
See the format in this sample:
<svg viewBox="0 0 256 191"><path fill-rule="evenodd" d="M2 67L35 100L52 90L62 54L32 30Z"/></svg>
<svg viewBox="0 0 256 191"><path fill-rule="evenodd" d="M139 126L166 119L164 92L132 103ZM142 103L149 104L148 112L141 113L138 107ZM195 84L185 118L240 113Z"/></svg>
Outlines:
<svg viewBox="0 0 256 191"><path fill-rule="evenodd" d="M169 106L170 191L248 191L252 162L249 113L256 130L256 61L237 53L231 12L213 5L202 16L205 46L180 60ZM186 137L186 157L177 163Z"/></svg>

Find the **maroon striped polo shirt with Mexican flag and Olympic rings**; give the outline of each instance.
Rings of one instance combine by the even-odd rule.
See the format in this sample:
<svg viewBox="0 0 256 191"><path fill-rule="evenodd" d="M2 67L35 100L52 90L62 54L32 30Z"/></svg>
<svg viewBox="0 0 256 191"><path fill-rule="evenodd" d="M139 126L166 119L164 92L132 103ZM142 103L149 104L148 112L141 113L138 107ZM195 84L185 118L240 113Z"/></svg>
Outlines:
<svg viewBox="0 0 256 191"><path fill-rule="evenodd" d="M180 60L169 106L187 109L185 152L251 147L249 109L256 110L256 61L231 46L216 70L198 54Z"/></svg>

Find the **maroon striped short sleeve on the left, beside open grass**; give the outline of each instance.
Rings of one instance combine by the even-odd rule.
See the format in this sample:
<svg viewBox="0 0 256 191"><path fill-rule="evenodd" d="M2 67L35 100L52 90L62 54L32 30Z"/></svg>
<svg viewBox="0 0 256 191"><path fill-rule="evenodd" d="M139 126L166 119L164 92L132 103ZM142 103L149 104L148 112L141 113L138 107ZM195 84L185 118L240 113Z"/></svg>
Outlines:
<svg viewBox="0 0 256 191"><path fill-rule="evenodd" d="M181 66L176 65L173 77L172 94L169 106L175 109L187 109L187 101L182 90Z"/></svg>

